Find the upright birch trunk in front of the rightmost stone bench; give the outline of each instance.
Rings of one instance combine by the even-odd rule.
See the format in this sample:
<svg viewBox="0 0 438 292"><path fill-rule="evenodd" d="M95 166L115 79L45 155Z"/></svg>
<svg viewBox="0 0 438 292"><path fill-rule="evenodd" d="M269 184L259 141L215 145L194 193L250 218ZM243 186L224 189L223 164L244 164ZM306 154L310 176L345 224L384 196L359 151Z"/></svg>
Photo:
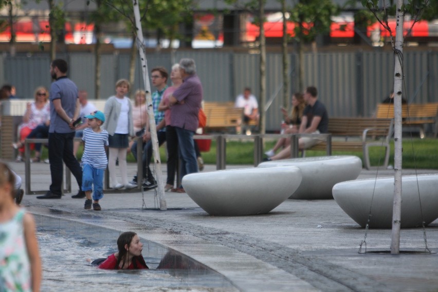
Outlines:
<svg viewBox="0 0 438 292"><path fill-rule="evenodd" d="M401 96L403 89L403 0L397 0L394 44L394 200L392 209L391 254L400 253L401 226Z"/></svg>

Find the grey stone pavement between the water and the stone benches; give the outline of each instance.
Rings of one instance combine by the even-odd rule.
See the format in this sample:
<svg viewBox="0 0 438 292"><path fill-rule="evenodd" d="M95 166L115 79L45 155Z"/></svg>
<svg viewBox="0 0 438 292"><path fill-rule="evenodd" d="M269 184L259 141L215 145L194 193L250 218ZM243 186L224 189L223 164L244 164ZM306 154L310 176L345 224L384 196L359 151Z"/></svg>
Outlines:
<svg viewBox="0 0 438 292"><path fill-rule="evenodd" d="M10 165L24 178L24 163ZM31 168L32 173L38 173L38 178L32 177L32 190L48 189L49 166L33 163ZM166 177L166 167L163 168L163 177ZM206 166L204 172L214 170L214 166ZM135 172L135 166L129 165L129 177ZM359 178L391 176L392 173L384 170L376 175L375 171L363 170ZM404 170L403 174L414 172ZM74 181L72 194L77 190ZM359 254L365 230L334 200L287 199L264 215L209 216L187 194L166 193L169 208L166 211L156 209L159 206L155 203L154 191L105 194L100 202L102 211L84 210L84 200L72 199L70 195L57 200L25 195L23 205L35 214L137 232L143 239L177 250L221 273L242 291L430 291L438 288L437 254ZM437 231L438 221L426 227L428 247L435 252ZM423 235L422 229L401 230L400 249L424 250ZM370 229L366 241L368 250L389 250L391 230Z"/></svg>

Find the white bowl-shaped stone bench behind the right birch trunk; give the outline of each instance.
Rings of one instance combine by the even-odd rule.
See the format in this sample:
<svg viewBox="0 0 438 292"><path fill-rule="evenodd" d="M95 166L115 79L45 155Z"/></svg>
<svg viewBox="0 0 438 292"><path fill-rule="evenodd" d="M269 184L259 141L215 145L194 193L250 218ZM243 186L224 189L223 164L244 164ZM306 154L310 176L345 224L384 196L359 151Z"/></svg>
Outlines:
<svg viewBox="0 0 438 292"><path fill-rule="evenodd" d="M401 190L401 227L421 227L423 221L428 225L438 218L438 174L403 176ZM340 182L333 187L333 196L339 207L361 227L367 225L370 210L370 228L392 227L393 177Z"/></svg>

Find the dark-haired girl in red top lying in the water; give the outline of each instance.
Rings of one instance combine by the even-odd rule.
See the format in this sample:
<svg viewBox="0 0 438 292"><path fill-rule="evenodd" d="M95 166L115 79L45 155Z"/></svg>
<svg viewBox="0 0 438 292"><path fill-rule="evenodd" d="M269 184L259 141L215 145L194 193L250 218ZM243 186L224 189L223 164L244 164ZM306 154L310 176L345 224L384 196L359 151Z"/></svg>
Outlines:
<svg viewBox="0 0 438 292"><path fill-rule="evenodd" d="M120 234L117 240L117 248L119 252L109 255L109 257L99 265L99 268L108 270L149 269L141 255L143 244L135 232L127 231Z"/></svg>

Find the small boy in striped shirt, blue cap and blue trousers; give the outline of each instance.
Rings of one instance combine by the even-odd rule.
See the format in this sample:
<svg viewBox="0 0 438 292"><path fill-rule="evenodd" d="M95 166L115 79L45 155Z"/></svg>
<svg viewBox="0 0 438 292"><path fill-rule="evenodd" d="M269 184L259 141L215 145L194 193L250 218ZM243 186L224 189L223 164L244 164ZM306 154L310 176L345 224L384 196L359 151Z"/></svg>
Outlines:
<svg viewBox="0 0 438 292"><path fill-rule="evenodd" d="M108 147L108 132L100 129L105 121L105 115L101 111L95 111L85 116L88 127L84 129L82 140L84 141L84 153L82 155L82 190L85 192L84 209L100 211L99 200L103 197L103 175L108 159L105 147ZM94 190L93 190L94 189ZM91 192L93 190L93 200Z"/></svg>

